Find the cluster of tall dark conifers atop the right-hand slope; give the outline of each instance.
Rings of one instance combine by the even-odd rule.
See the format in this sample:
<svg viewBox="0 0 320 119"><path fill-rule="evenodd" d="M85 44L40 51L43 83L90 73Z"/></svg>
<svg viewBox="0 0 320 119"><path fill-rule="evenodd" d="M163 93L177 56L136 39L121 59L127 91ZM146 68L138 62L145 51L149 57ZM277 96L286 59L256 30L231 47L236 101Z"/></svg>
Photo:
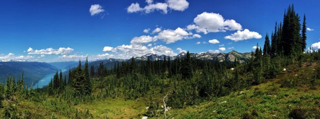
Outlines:
<svg viewBox="0 0 320 119"><path fill-rule="evenodd" d="M266 35L264 44L264 55L271 57L284 55L297 57L306 50L306 16L303 16L302 26L300 16L294 10L294 5L289 6L284 12L283 25L275 23L274 31L271 33L271 45L269 35Z"/></svg>

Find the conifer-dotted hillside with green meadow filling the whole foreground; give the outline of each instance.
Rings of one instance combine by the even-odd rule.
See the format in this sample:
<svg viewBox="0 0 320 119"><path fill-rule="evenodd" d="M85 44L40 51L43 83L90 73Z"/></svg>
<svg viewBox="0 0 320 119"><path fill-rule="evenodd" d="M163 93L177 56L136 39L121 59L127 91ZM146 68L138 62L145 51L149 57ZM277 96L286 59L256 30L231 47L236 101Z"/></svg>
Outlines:
<svg viewBox="0 0 320 119"><path fill-rule="evenodd" d="M233 62L164 56L163 60L79 61L69 75L27 90L25 80L0 85L3 118L320 118L320 50L306 48L294 7L262 47L232 52ZM241 61L241 62L240 62Z"/></svg>

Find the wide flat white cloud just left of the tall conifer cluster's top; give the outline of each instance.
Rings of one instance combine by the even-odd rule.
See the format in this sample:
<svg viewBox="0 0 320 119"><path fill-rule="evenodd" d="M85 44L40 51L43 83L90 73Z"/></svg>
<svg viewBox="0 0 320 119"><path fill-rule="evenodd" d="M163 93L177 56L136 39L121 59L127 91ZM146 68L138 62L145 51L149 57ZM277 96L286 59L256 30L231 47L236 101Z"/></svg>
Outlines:
<svg viewBox="0 0 320 119"><path fill-rule="evenodd" d="M243 41L246 39L252 39L252 38L261 38L261 34L259 34L258 32L254 32L254 31L249 31L248 29L244 29L243 31L238 30L237 32L225 36L225 39L231 39L232 41Z"/></svg>

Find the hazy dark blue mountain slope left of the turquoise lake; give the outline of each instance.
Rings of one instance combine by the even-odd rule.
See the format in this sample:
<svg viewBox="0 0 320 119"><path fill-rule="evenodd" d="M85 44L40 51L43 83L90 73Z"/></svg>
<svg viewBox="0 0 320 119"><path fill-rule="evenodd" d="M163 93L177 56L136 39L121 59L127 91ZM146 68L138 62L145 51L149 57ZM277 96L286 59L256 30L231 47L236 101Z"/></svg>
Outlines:
<svg viewBox="0 0 320 119"><path fill-rule="evenodd" d="M0 82L6 82L7 75L21 77L24 71L24 82L30 86L36 84L42 77L50 73L56 72L58 69L44 62L0 62Z"/></svg>

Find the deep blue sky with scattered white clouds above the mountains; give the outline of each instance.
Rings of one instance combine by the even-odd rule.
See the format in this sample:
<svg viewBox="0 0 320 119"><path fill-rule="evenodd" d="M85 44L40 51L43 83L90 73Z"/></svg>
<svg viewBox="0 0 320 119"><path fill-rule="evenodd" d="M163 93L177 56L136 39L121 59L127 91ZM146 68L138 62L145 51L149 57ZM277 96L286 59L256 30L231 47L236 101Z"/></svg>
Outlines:
<svg viewBox="0 0 320 119"><path fill-rule="evenodd" d="M306 14L307 47L320 42L319 1L2 1L0 60L250 52L290 4ZM152 33L155 28L161 30Z"/></svg>

